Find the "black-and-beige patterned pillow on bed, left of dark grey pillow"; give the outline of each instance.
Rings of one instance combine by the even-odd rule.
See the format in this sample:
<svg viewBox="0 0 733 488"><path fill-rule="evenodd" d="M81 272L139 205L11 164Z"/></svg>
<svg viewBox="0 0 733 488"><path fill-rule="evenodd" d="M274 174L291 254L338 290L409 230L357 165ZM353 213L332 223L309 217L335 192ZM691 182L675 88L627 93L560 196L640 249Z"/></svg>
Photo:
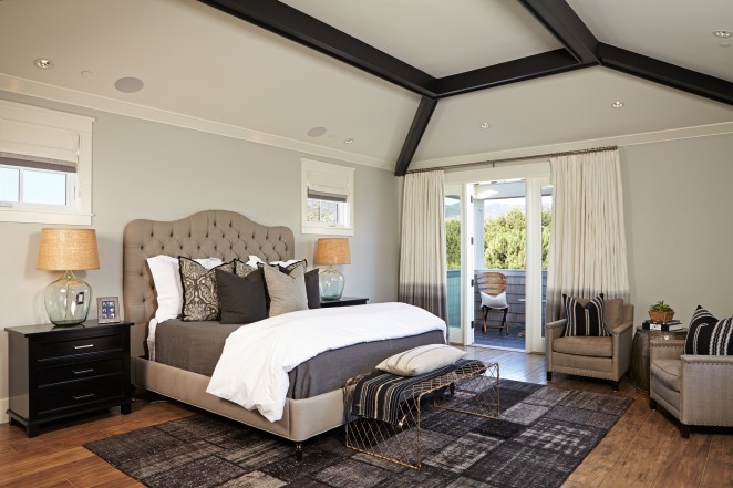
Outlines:
<svg viewBox="0 0 733 488"><path fill-rule="evenodd" d="M193 259L178 258L183 284L183 320L187 322L218 320L219 295L216 291L217 269L234 272L234 262L206 269Z"/></svg>

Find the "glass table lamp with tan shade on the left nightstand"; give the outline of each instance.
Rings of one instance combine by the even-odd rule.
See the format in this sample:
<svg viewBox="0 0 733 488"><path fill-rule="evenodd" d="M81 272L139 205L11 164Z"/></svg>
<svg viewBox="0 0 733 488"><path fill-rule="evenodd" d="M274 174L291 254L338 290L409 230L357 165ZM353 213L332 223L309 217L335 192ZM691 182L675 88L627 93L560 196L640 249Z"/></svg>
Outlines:
<svg viewBox="0 0 733 488"><path fill-rule="evenodd" d="M64 271L43 292L51 322L56 325L84 322L92 303L92 289L74 271L100 269L94 229L42 229L35 269Z"/></svg>

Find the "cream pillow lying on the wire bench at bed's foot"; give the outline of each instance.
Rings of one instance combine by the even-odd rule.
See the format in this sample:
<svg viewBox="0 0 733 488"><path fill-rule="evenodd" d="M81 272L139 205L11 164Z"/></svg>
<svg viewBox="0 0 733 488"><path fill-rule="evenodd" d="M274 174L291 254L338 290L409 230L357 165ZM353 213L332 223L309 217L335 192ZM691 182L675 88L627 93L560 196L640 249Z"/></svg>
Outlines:
<svg viewBox="0 0 733 488"><path fill-rule="evenodd" d="M390 356L376 368L400 376L417 376L451 365L465 355L465 351L450 345L427 344Z"/></svg>

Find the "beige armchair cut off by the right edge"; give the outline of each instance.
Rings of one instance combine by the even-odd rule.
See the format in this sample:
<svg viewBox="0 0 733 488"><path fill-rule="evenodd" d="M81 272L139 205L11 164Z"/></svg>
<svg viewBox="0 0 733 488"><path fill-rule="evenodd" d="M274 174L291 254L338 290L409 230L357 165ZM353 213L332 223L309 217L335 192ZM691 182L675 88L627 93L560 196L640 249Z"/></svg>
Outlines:
<svg viewBox="0 0 733 488"><path fill-rule="evenodd" d="M691 425L733 426L733 356L683 354L682 340L652 340L649 351L649 406L680 420L682 437Z"/></svg>

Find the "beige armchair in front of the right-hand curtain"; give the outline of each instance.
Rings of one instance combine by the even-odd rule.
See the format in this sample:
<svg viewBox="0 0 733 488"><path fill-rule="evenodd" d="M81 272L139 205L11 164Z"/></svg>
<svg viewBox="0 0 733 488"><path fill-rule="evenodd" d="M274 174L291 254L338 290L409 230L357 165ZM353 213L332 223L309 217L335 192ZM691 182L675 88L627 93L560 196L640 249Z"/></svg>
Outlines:
<svg viewBox="0 0 733 488"><path fill-rule="evenodd" d="M579 300L584 305L588 300ZM547 381L553 373L610 380L613 391L619 380L629 371L631 338L633 334L633 305L621 299L603 302L603 322L610 338L562 336L566 319L550 322L546 328Z"/></svg>

